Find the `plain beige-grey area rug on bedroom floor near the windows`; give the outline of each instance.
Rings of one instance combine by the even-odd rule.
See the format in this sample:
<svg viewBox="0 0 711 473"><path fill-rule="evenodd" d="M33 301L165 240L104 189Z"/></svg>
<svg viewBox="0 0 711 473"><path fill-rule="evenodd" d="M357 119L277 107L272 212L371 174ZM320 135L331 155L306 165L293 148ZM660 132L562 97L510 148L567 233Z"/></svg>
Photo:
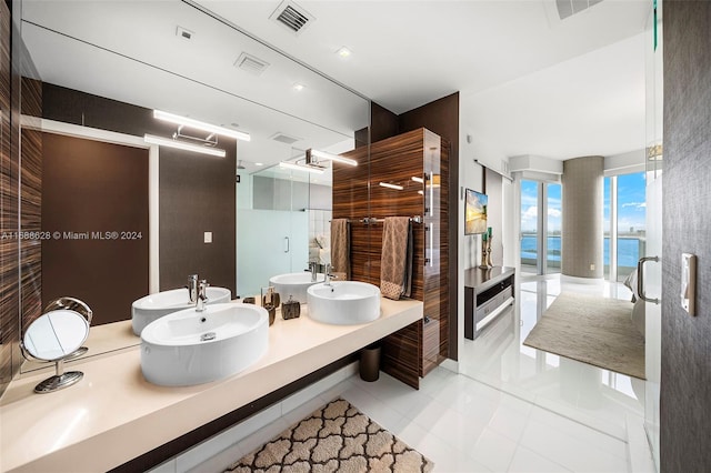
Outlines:
<svg viewBox="0 0 711 473"><path fill-rule="evenodd" d="M644 380L644 339L631 312L628 301L563 292L523 344Z"/></svg>

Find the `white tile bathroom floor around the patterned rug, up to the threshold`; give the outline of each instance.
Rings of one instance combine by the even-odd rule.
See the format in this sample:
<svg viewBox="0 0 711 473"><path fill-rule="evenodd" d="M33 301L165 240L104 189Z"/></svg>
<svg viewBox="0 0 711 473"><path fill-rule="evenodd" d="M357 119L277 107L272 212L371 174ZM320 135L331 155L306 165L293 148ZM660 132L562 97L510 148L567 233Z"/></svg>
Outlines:
<svg viewBox="0 0 711 473"><path fill-rule="evenodd" d="M623 441L441 368L420 391L382 373L374 383L350 378L199 471L220 471L339 395L430 457L435 472L629 471Z"/></svg>

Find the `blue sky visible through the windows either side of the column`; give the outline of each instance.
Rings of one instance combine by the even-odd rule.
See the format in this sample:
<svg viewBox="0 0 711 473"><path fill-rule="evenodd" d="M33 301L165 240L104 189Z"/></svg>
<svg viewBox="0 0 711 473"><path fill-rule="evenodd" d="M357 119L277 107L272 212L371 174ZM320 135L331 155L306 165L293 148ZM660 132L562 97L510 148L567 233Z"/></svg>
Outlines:
<svg viewBox="0 0 711 473"><path fill-rule="evenodd" d="M535 232L538 218L537 182L521 182L521 230ZM548 229L550 232L561 228L561 185L548 185ZM603 201L604 231L610 231L610 179L604 180ZM629 233L645 229L647 215L644 173L623 174L618 177L618 232Z"/></svg>

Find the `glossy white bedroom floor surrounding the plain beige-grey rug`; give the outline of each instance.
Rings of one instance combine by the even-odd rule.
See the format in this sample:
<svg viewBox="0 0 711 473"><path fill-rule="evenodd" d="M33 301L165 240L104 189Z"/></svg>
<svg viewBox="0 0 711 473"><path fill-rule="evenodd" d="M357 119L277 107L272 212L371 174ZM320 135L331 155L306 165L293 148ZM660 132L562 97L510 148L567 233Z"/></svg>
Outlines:
<svg viewBox="0 0 711 473"><path fill-rule="evenodd" d="M559 278L524 279L517 303L475 341L460 349L462 374L627 440L627 419L644 415L644 382L523 345L561 291L629 300L622 284L578 284Z"/></svg>

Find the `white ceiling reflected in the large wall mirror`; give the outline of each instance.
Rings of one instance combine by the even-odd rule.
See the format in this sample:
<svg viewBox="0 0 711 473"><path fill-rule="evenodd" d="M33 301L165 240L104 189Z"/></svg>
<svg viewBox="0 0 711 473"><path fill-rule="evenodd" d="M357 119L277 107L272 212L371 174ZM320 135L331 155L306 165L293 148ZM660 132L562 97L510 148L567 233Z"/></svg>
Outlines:
<svg viewBox="0 0 711 473"><path fill-rule="evenodd" d="M41 80L249 132L248 172L307 148L352 149L368 124L365 99L184 2L24 1L22 20ZM238 69L242 53L269 66Z"/></svg>

